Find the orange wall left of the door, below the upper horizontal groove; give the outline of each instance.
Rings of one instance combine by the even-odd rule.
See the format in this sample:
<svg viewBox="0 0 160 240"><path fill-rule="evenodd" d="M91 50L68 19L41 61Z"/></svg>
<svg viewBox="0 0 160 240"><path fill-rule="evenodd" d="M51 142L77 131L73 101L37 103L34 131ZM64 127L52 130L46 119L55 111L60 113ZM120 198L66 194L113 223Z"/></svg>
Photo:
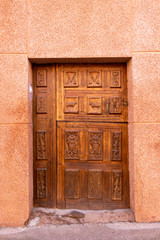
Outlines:
<svg viewBox="0 0 160 240"><path fill-rule="evenodd" d="M0 225L20 226L33 206L31 67L24 54L0 62Z"/></svg>

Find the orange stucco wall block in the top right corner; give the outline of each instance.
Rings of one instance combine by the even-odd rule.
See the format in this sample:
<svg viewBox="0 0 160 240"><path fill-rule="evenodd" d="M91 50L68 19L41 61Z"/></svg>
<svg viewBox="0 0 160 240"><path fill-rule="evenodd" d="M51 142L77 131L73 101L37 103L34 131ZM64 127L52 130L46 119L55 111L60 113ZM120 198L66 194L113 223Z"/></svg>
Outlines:
<svg viewBox="0 0 160 240"><path fill-rule="evenodd" d="M160 51L159 14L159 0L133 0L133 51Z"/></svg>

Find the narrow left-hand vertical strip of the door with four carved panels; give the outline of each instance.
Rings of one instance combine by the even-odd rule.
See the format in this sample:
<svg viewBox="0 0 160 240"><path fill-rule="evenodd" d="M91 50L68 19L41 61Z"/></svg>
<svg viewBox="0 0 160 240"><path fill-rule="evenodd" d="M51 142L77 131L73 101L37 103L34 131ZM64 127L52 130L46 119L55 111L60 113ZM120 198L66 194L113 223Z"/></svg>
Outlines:
<svg viewBox="0 0 160 240"><path fill-rule="evenodd" d="M33 68L34 204L56 207L55 66Z"/></svg>

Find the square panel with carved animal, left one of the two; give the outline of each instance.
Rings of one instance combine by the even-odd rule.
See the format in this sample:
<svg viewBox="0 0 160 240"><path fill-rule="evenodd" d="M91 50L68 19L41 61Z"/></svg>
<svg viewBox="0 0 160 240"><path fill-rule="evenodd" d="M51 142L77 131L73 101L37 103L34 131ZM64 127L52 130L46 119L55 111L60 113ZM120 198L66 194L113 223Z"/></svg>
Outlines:
<svg viewBox="0 0 160 240"><path fill-rule="evenodd" d="M79 112L78 97L65 97L64 113L78 113L78 112Z"/></svg>

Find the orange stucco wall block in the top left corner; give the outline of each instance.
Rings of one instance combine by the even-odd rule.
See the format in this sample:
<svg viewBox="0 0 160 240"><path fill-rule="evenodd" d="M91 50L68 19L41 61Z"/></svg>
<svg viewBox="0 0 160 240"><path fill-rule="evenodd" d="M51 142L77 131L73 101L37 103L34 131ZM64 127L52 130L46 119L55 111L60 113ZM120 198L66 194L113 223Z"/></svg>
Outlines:
<svg viewBox="0 0 160 240"><path fill-rule="evenodd" d="M0 53L27 53L25 0L0 0Z"/></svg>

